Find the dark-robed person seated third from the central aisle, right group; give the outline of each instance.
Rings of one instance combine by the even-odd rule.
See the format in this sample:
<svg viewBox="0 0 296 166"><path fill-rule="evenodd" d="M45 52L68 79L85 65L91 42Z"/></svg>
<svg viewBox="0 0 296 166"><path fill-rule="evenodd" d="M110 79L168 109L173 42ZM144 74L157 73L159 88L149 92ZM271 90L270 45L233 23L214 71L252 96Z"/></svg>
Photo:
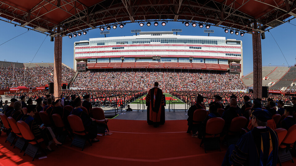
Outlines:
<svg viewBox="0 0 296 166"><path fill-rule="evenodd" d="M241 113L241 108L237 106L236 98L230 99L229 106L230 106L229 109L225 110L222 115L222 118L225 121L225 125L224 125L225 132L228 131L228 128L230 127L230 124L233 118L243 116Z"/></svg>

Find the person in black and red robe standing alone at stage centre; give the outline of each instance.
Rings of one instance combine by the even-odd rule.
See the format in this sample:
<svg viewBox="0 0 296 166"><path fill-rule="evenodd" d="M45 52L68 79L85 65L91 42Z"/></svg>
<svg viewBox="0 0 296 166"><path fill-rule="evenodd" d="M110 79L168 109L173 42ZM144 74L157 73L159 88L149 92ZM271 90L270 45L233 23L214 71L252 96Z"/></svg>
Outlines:
<svg viewBox="0 0 296 166"><path fill-rule="evenodd" d="M148 124L158 127L160 123L164 123L160 121L161 113L165 111L164 100L162 90L158 88L158 82L155 82L154 88L150 89L146 96Z"/></svg>

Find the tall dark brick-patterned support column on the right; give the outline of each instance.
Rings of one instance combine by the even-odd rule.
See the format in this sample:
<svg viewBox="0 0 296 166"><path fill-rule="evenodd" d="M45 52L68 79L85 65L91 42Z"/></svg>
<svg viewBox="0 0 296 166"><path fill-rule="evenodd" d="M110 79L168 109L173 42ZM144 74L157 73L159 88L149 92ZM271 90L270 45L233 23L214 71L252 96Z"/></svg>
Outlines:
<svg viewBox="0 0 296 166"><path fill-rule="evenodd" d="M254 22L257 27L257 22ZM254 28L255 29L255 28ZM261 54L261 35L255 31L252 34L253 40L253 97L262 98L262 54Z"/></svg>

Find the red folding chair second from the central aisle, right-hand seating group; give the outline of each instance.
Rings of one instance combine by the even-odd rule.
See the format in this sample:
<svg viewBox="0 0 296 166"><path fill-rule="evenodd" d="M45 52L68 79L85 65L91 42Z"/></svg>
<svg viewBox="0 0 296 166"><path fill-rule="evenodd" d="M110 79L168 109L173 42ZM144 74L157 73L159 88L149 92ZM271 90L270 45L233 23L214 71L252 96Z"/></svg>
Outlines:
<svg viewBox="0 0 296 166"><path fill-rule="evenodd" d="M211 118L206 124L206 133L204 138L201 140L200 147L204 144L204 152L207 150L214 150L220 148L220 133L223 131L225 125L224 119L220 117Z"/></svg>

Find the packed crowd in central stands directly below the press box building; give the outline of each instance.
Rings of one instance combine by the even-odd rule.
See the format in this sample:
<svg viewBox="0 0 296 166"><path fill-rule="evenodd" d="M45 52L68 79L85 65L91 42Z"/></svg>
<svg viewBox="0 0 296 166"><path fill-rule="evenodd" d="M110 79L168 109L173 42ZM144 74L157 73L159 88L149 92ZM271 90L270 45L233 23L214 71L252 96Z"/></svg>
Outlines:
<svg viewBox="0 0 296 166"><path fill-rule="evenodd" d="M71 87L100 90L147 90L155 81L163 90L224 91L243 90L238 74L163 71L87 71L80 72ZM229 88L230 87L230 88Z"/></svg>

